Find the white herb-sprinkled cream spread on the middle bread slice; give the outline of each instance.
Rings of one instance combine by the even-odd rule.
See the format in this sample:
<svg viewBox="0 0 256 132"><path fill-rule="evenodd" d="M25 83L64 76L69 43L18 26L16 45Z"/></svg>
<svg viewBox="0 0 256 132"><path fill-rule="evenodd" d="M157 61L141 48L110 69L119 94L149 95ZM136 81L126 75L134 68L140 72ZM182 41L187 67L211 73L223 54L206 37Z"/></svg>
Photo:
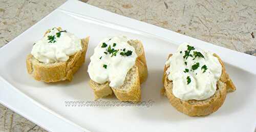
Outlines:
<svg viewBox="0 0 256 132"><path fill-rule="evenodd" d="M134 66L137 54L125 36L107 37L99 42L88 66L90 78L97 83L110 82L111 87L123 84Z"/></svg>

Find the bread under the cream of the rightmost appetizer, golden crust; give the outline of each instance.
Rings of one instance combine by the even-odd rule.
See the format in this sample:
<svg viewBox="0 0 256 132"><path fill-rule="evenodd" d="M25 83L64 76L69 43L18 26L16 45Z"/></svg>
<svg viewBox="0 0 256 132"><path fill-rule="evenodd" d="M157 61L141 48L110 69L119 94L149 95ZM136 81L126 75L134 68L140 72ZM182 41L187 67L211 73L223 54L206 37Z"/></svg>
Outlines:
<svg viewBox="0 0 256 132"><path fill-rule="evenodd" d="M172 54L169 55L169 57ZM219 62L222 65L222 74L221 78L217 81L217 91L216 93L208 99L205 100L187 100L183 101L179 98L176 98L173 95L173 82L168 80L166 70L168 67L164 67L163 83L164 89L162 94L166 95L170 103L179 111L188 116L206 116L211 113L216 112L219 107L223 104L227 92L236 91L232 80L229 78L229 75L226 73L223 62L220 57L214 54L218 58Z"/></svg>

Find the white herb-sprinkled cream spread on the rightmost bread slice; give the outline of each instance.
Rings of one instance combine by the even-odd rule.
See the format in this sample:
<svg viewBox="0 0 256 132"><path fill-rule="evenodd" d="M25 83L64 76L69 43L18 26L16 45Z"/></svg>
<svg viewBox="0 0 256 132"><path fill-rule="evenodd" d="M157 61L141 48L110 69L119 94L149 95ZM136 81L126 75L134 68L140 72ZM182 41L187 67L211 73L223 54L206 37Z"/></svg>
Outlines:
<svg viewBox="0 0 256 132"><path fill-rule="evenodd" d="M222 66L212 53L182 43L165 63L173 94L181 100L204 100L215 94Z"/></svg>

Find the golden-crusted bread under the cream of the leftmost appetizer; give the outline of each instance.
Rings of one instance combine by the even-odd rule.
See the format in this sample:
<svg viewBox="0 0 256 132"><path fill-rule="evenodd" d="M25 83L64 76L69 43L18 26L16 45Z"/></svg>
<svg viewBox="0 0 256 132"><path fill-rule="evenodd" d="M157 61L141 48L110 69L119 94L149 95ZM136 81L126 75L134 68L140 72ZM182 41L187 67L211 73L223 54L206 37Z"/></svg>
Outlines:
<svg viewBox="0 0 256 132"><path fill-rule="evenodd" d="M88 43L89 37L81 39L82 50L70 56L69 59L65 62L46 64L38 61L32 54L29 54L26 60L27 71L38 81L71 81L73 79L73 74L76 73L76 71L81 67L82 63L84 62Z"/></svg>

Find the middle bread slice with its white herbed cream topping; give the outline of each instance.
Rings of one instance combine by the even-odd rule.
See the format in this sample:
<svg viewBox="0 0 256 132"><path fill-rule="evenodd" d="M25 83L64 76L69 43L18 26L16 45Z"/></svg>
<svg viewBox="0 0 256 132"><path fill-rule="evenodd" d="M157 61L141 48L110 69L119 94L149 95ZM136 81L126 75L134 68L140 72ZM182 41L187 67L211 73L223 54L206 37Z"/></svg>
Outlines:
<svg viewBox="0 0 256 132"><path fill-rule="evenodd" d="M100 41L88 66L95 99L112 93L120 101L140 101L140 84L147 78L144 48L124 36Z"/></svg>

